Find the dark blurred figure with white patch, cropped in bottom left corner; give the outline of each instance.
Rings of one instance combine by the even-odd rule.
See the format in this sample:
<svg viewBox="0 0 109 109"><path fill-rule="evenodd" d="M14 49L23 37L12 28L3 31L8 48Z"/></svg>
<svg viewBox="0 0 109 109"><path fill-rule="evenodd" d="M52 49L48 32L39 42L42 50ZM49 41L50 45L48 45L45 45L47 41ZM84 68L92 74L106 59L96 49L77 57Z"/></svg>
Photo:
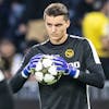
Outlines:
<svg viewBox="0 0 109 109"><path fill-rule="evenodd" d="M13 109L12 92L0 70L0 109Z"/></svg>

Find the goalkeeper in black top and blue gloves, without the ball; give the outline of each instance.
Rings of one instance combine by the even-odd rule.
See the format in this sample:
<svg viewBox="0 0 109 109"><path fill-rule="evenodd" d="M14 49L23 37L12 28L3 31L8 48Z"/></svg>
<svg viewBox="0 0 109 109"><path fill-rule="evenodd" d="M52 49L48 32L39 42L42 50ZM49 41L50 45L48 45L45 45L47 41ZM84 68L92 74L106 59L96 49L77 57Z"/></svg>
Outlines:
<svg viewBox="0 0 109 109"><path fill-rule="evenodd" d="M11 80L16 93L29 77L31 69L44 55L55 58L58 70L65 75L52 85L39 84L41 109L90 109L87 85L104 87L104 71L92 43L85 38L66 34L70 26L69 12L62 3L52 3L44 12L49 39L32 47L21 69ZM86 72L88 71L88 73Z"/></svg>

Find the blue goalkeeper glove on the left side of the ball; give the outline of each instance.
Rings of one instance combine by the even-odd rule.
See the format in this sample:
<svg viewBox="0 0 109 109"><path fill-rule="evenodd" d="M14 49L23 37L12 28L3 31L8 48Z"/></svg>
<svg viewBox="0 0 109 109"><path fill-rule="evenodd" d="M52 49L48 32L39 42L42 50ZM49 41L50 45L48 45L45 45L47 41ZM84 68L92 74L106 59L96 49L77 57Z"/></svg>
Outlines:
<svg viewBox="0 0 109 109"><path fill-rule="evenodd" d="M23 77L28 77L28 75L32 73L32 69L36 68L37 62L44 57L44 55L38 53L34 56L31 61L27 63L27 65L23 69L22 75Z"/></svg>

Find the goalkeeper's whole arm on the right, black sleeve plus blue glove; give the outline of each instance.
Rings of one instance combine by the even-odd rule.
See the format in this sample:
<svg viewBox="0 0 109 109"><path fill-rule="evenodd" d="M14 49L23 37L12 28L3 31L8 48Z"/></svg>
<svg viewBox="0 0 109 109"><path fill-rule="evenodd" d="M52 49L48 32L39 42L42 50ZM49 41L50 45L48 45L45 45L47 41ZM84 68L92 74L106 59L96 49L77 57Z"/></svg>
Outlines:
<svg viewBox="0 0 109 109"><path fill-rule="evenodd" d="M87 40L83 41L83 62L85 70L76 69L69 64L64 59L58 57L55 60L58 71L64 72L65 75L70 75L73 78L98 88L102 88L105 84L105 75L99 58L93 47L92 43ZM86 72L88 70L88 73Z"/></svg>

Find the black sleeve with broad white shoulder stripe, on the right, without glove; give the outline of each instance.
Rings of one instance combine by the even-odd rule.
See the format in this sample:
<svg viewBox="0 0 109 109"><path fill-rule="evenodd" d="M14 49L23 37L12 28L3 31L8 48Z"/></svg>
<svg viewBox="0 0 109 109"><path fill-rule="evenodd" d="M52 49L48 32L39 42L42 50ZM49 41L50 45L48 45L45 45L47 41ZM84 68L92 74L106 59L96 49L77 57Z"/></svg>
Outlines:
<svg viewBox="0 0 109 109"><path fill-rule="evenodd" d="M97 52L89 40L85 41L84 45L84 63L88 72L84 73L81 71L78 80L85 84L102 88L105 84L104 70Z"/></svg>

